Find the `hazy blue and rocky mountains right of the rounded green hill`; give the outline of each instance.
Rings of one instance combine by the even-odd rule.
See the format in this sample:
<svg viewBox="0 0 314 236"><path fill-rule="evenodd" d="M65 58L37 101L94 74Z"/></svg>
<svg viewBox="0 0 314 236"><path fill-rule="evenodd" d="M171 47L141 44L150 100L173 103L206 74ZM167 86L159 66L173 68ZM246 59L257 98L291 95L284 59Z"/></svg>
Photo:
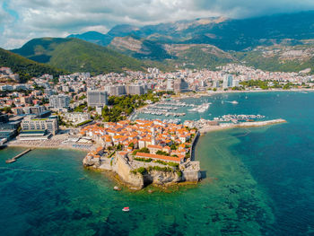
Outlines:
<svg viewBox="0 0 314 236"><path fill-rule="evenodd" d="M89 40L90 33L69 37ZM141 28L118 25L98 37L95 43L128 56L184 66L214 68L235 62L271 71L314 69L313 11L240 20L212 17Z"/></svg>

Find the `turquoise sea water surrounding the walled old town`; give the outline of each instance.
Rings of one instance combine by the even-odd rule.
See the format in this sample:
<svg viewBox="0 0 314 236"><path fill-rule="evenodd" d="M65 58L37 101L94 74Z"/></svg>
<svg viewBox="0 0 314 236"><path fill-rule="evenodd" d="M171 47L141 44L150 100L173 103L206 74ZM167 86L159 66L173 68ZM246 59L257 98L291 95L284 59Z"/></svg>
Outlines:
<svg viewBox="0 0 314 236"><path fill-rule="evenodd" d="M259 113L288 123L202 136L205 179L153 194L113 191L105 174L83 169L82 152L38 149L8 165L23 149L1 150L0 235L314 235L314 93L187 102L202 100L213 102L203 118Z"/></svg>

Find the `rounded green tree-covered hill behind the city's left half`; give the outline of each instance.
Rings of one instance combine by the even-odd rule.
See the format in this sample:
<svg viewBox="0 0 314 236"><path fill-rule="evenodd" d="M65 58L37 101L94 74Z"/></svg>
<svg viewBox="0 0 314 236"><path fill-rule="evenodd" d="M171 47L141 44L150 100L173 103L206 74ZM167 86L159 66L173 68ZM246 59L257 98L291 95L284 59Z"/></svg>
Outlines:
<svg viewBox="0 0 314 236"><path fill-rule="evenodd" d="M82 39L32 39L13 52L69 72L103 74L144 69L144 62Z"/></svg>

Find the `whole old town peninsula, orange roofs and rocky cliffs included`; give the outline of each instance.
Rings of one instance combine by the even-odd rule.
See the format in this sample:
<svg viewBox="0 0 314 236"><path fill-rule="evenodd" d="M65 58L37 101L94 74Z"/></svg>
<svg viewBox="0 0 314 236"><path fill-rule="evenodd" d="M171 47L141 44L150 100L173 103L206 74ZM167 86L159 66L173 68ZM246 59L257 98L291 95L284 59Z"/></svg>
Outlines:
<svg viewBox="0 0 314 236"><path fill-rule="evenodd" d="M111 170L133 188L149 184L168 186L201 178L193 148L196 128L161 120L108 122L84 127L81 135L91 137L100 147L83 159L83 165Z"/></svg>

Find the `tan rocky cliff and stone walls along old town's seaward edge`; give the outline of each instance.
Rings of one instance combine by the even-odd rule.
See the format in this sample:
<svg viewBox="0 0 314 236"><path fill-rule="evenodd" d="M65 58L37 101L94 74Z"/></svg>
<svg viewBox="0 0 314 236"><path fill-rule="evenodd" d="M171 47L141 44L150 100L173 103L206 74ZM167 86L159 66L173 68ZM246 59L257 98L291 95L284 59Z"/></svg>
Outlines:
<svg viewBox="0 0 314 236"><path fill-rule="evenodd" d="M96 170L109 170L118 175L127 187L142 189L148 185L167 187L180 182L196 183L201 179L199 162L184 162L179 169L168 167L158 163L141 163L143 171L136 171L138 162L117 153L111 158L91 158L89 155L83 159L83 166ZM158 167L158 168L155 168Z"/></svg>

